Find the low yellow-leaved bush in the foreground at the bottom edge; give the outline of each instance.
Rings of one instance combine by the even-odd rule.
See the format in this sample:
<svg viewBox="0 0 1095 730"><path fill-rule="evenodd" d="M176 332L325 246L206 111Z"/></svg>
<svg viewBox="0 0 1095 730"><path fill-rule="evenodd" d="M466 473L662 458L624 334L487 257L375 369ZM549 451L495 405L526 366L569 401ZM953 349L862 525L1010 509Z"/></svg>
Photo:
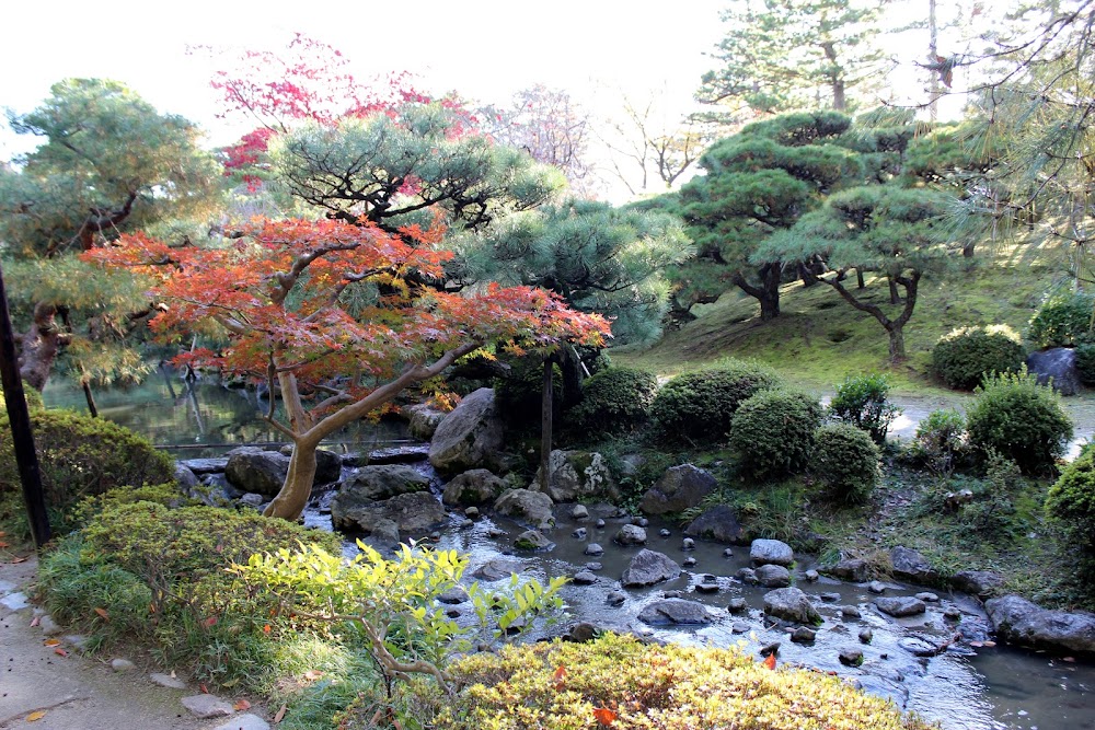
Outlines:
<svg viewBox="0 0 1095 730"><path fill-rule="evenodd" d="M735 649L661 646L614 634L588 644L509 646L461 659L452 671L464 688L451 699L436 697L437 730L931 727L835 676L772 671Z"/></svg>

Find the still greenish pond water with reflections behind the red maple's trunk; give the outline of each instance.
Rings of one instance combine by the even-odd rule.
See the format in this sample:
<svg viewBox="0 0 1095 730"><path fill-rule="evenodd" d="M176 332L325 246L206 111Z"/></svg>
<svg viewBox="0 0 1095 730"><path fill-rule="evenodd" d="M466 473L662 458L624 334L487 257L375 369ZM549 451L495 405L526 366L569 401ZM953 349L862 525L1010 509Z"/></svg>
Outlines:
<svg viewBox="0 0 1095 730"><path fill-rule="evenodd" d="M50 380L43 398L48 408L88 412L83 392L70 381ZM216 456L243 444L286 441L262 419L269 401L254 390L224 387L217 380L186 381L166 369L153 373L140 385L96 390L95 402L102 418L145 436L178 459ZM325 445L348 452L390 445L407 438L401 422L359 421L332 436Z"/></svg>

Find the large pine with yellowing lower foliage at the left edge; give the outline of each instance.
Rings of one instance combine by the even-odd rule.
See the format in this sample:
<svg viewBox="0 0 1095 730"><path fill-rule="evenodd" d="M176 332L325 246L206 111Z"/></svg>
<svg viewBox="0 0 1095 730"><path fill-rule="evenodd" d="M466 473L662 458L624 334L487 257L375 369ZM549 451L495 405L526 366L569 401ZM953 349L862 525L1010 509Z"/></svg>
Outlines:
<svg viewBox="0 0 1095 730"><path fill-rule="evenodd" d="M212 209L219 176L195 125L158 113L115 81L56 83L42 106L9 114L9 124L42 138L16 164L0 165L0 240L7 256L25 262L13 270L36 271L12 291L26 300L31 315L20 338L23 378L41 389L70 343L90 346L125 329L129 315L147 308L130 298L128 285L82 279L89 271L78 274L79 265L62 259L126 231L175 227L180 237L193 233L194 227L177 222ZM92 370L103 367L110 370L103 363Z"/></svg>

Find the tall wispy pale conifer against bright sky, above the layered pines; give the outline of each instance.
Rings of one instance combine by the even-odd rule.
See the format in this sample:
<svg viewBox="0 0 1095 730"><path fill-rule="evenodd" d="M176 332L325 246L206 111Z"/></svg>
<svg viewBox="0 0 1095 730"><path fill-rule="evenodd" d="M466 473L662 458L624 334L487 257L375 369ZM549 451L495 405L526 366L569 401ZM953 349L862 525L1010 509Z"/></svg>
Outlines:
<svg viewBox="0 0 1095 730"><path fill-rule="evenodd" d="M727 27L703 74L702 101L764 113L851 111L885 71L872 43L878 4L854 0L733 0Z"/></svg>

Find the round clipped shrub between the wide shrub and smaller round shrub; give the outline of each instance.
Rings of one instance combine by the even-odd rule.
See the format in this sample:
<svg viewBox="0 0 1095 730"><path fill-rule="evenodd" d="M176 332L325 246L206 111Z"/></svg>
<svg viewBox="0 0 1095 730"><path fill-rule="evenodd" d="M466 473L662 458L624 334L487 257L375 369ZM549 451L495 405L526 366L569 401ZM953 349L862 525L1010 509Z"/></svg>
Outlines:
<svg viewBox="0 0 1095 730"><path fill-rule="evenodd" d="M817 398L798 391L762 391L745 401L730 427L741 473L769 479L800 472L822 415Z"/></svg>

